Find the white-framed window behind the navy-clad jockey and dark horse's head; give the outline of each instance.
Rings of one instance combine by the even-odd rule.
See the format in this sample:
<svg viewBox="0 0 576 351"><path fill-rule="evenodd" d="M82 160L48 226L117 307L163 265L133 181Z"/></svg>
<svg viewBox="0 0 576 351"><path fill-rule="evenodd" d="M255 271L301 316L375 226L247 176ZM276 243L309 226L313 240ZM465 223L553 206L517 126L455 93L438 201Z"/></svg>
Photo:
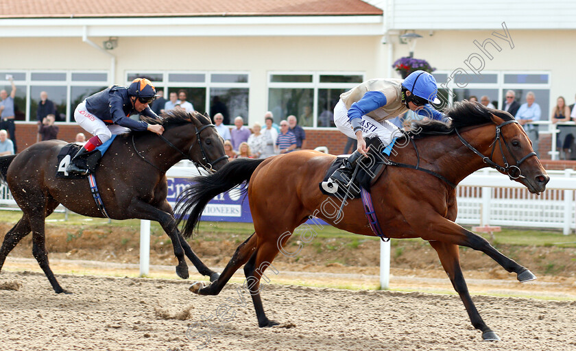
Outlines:
<svg viewBox="0 0 576 351"><path fill-rule="evenodd" d="M224 115L224 123L231 124L237 116L248 123L248 95L250 93L250 75L243 72L129 72L127 83L137 77L152 80L156 90L164 90L165 99L170 93L184 90L194 110L204 114L209 112Z"/></svg>

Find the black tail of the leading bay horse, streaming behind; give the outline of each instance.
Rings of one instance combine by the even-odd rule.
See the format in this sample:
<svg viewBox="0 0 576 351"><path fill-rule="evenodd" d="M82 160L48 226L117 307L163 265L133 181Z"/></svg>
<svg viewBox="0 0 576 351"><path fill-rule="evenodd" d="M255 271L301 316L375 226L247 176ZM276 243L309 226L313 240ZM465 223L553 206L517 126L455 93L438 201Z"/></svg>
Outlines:
<svg viewBox="0 0 576 351"><path fill-rule="evenodd" d="M184 238L191 237L195 226L200 221L202 211L213 197L243 182L248 182L256 167L263 161L264 159L239 158L224 165L216 173L193 178L192 184L178 196L178 202L174 208L174 212L180 214L178 224L184 219L184 214L189 213L188 219L182 225Z"/></svg>

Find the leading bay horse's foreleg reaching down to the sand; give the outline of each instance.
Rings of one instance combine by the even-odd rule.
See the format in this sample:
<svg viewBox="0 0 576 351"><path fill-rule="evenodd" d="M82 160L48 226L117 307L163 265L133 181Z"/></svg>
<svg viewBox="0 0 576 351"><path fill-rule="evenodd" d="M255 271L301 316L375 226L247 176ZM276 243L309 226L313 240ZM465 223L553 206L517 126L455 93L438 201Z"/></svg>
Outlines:
<svg viewBox="0 0 576 351"><path fill-rule="evenodd" d="M442 267L444 267L446 274L448 274L448 278L450 278L454 290L458 295L460 295L462 302L464 302L464 307L466 308L466 312L468 312L468 317L470 317L472 326L481 330L482 339L486 341L499 340L498 335L488 328L482 320L482 317L480 317L474 302L472 302L470 293L468 293L468 287L466 287L466 281L464 280L464 275L460 268L458 246L442 243L440 241L430 241L430 245L432 245L434 250L438 253L440 263L442 263Z"/></svg>

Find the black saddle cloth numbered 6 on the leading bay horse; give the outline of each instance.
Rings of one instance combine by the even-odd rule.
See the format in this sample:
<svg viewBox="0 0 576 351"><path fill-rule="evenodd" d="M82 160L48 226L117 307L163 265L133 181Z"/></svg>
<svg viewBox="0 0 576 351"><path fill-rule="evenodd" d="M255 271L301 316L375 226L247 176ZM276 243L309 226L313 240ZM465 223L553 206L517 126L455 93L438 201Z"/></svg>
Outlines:
<svg viewBox="0 0 576 351"><path fill-rule="evenodd" d="M348 193L348 199L359 199L361 197L361 189L366 189L370 192L370 187L383 173L386 162L385 155L382 154L384 145L380 141L380 138L366 139L366 146L370 147L368 157L364 157L357 162L354 171L355 177L349 186L348 184L341 184L341 182L329 181L331 175L342 165L342 162L348 158L348 155L338 156L336 160L332 162L330 167L328 167L326 175L324 175L324 180L318 184L320 191L322 191L324 195L335 196L341 199Z"/></svg>

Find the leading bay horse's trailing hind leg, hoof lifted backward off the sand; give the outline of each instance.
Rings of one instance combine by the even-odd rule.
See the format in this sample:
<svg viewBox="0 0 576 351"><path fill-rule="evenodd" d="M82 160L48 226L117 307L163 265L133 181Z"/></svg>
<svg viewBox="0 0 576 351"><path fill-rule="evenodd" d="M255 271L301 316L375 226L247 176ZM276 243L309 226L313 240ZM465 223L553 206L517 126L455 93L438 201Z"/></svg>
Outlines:
<svg viewBox="0 0 576 351"><path fill-rule="evenodd" d="M232 275L252 256L252 253L256 250L257 241L258 237L255 233L250 235L248 239L238 246L234 255L230 258L230 262L228 262L228 265L226 265L217 280L207 287L204 287L204 282L195 282L191 285L190 291L198 295L218 295L228 280L232 278Z"/></svg>

